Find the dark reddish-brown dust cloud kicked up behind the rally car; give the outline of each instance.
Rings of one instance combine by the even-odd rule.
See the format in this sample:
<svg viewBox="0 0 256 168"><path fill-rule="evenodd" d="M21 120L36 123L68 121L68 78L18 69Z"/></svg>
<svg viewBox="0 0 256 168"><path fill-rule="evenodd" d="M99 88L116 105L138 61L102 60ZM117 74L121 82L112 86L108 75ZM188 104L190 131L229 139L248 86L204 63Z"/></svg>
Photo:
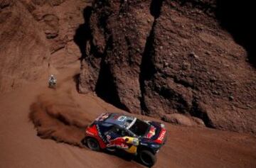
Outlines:
<svg viewBox="0 0 256 168"><path fill-rule="evenodd" d="M29 118L38 136L82 147L80 140L90 119L70 93L53 91L40 95L30 109Z"/></svg>

